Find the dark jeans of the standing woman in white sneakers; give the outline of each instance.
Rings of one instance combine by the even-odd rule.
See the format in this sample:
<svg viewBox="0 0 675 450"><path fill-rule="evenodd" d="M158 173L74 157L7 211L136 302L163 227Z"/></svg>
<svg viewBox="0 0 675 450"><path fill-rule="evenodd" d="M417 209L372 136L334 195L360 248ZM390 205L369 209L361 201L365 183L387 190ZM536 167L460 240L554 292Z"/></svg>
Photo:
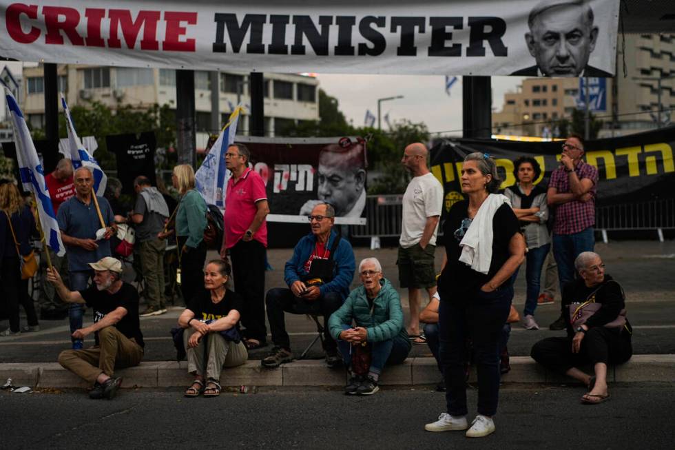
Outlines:
<svg viewBox="0 0 675 450"><path fill-rule="evenodd" d="M466 416L464 342L470 338L478 371L478 413L494 416L499 399L499 353L503 326L513 298L511 286L473 292L461 301L439 305L439 356L446 382L448 413Z"/></svg>

